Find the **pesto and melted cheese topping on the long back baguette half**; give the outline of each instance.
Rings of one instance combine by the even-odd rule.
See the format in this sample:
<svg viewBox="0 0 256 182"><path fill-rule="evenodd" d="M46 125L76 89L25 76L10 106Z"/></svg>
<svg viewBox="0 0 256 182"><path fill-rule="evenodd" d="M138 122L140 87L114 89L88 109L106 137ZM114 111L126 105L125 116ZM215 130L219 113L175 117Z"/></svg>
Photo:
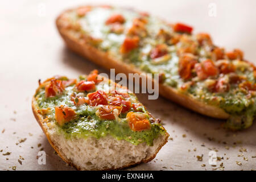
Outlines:
<svg viewBox="0 0 256 182"><path fill-rule="evenodd" d="M106 24L112 15L121 14L125 19L121 23L123 31L113 32L112 25ZM101 51L108 52L110 56L119 59L128 64L133 64L135 67L147 73L159 73L162 75L162 84L171 86L183 94L187 94L197 100L207 102L207 104L220 107L230 114L226 126L234 130L245 129L253 123L255 116L255 88L248 90L242 88L240 84L249 81L251 85L255 85L254 67L243 61L242 59L231 60L229 57L224 56L221 60L214 59L212 51L216 46L212 41L205 41L200 44L197 35L189 34L186 32L175 32L174 28L166 22L156 18L155 16L143 16L147 20L144 24L146 28L146 35L139 36L139 46L132 49L128 53L121 53L120 47L122 46L126 37L129 37L129 29L133 26L135 18L142 17L136 11L128 9L119 9L115 7L92 7L85 15L78 15L76 10L67 13L71 24L79 25L79 31L82 35L87 35L94 38L97 44L93 46L101 49ZM170 37L179 37L177 43L167 42L163 36L159 35L160 31L167 32ZM151 51L158 45L164 44L167 46L168 56L152 58ZM190 46L190 47L189 47ZM234 66L234 70L228 73L221 73L218 70L217 75L208 76L204 79L199 79L195 68L191 69L191 77L184 79L180 76L179 61L180 55L185 48L192 48L191 53L196 56L197 63L202 63L206 59L211 59L214 67L226 61L227 64ZM240 82L232 82L233 77L242 78ZM223 80L221 89L212 91L209 89L209 83L214 81ZM186 89L182 88L186 86ZM223 86L224 85L224 86ZM223 88L228 88L224 89Z"/></svg>

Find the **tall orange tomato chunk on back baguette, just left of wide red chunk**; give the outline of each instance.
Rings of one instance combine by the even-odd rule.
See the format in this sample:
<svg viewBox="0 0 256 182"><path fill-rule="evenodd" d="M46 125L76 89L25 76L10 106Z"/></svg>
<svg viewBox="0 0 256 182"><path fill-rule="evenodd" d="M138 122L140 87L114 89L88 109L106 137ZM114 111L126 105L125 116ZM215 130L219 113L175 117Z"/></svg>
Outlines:
<svg viewBox="0 0 256 182"><path fill-rule="evenodd" d="M179 75L187 80L191 78L191 71L195 67L197 60L191 54L184 54L179 59Z"/></svg>

